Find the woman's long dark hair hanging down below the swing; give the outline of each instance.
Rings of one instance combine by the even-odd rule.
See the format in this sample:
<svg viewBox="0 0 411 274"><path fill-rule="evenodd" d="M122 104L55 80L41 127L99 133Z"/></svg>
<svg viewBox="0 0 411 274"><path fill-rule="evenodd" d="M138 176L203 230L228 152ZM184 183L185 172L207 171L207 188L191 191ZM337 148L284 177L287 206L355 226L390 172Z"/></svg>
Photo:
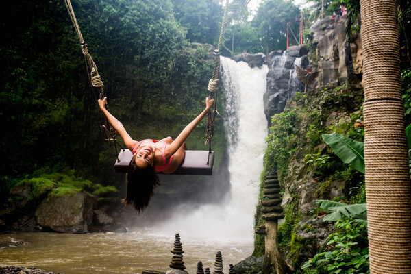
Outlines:
<svg viewBox="0 0 411 274"><path fill-rule="evenodd" d="M160 179L155 174L154 166L142 169L133 160L127 174L127 193L123 199L125 206L133 206L138 212L142 212L149 205L154 195L154 188L159 185Z"/></svg>

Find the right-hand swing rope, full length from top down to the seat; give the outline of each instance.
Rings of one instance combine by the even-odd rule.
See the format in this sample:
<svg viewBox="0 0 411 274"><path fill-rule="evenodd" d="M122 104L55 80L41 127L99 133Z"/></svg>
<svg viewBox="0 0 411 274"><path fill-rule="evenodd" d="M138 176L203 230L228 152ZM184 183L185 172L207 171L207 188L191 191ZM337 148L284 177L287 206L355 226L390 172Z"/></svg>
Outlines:
<svg viewBox="0 0 411 274"><path fill-rule="evenodd" d="M210 162L210 154L211 154L211 139L214 135L214 123L216 121L216 115L220 115L219 111L216 108L217 97L219 93L219 73L220 73L220 54L221 54L221 44L223 43L223 36L225 32L225 26L227 25L227 13L228 13L228 2L225 3L224 8L224 15L223 15L223 22L221 23L221 30L219 36L219 44L217 45L217 49L214 51L214 69L212 72L212 79L208 82L208 98L212 99L215 93L215 100L214 100L214 109L212 112L208 112L207 114L207 122L206 122L206 144L209 145L208 149L208 161L207 164Z"/></svg>

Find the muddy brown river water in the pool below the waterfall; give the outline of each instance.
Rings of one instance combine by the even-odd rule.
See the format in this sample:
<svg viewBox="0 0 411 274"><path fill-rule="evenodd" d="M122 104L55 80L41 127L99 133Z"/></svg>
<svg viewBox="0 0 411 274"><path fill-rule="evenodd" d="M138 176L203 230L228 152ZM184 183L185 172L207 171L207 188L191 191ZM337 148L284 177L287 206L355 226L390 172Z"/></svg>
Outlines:
<svg viewBox="0 0 411 274"><path fill-rule="evenodd" d="M249 240L229 238L184 238L184 264L194 274L197 262L214 270L216 251L223 253L224 272L253 251ZM66 274L141 273L146 269L166 271L171 262L174 235L149 231L93 234L20 233L0 235L0 242L24 241L0 249L0 265L36 267Z"/></svg>

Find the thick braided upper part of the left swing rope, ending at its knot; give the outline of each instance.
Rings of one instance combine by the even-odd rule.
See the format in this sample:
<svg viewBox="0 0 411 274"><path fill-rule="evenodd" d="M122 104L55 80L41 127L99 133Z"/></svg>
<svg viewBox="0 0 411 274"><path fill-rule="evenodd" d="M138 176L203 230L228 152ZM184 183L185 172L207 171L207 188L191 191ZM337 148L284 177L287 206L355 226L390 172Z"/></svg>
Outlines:
<svg viewBox="0 0 411 274"><path fill-rule="evenodd" d="M82 45L82 52L84 57L87 60L88 66L91 69L91 84L92 86L95 86L96 88L102 88L103 87L103 81L101 80L101 77L99 75L99 71L97 70L97 66L95 62L92 60L91 55L88 53L87 50L87 45L84 42L82 32L80 31L79 24L77 23L77 19L75 18L75 13L73 10L73 7L71 6L71 1L70 0L64 0L64 3L66 3L66 8L69 10L71 22L73 23L73 26L75 28L75 32L77 33L77 36L80 40L80 44Z"/></svg>

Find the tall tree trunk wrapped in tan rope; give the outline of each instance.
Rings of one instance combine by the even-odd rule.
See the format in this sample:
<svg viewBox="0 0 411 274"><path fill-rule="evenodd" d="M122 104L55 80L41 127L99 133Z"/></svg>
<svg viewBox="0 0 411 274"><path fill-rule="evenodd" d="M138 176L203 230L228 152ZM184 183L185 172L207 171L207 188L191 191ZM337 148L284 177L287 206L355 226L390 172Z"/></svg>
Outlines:
<svg viewBox="0 0 411 274"><path fill-rule="evenodd" d="M411 273L411 186L397 16L395 0L361 1L371 273Z"/></svg>

